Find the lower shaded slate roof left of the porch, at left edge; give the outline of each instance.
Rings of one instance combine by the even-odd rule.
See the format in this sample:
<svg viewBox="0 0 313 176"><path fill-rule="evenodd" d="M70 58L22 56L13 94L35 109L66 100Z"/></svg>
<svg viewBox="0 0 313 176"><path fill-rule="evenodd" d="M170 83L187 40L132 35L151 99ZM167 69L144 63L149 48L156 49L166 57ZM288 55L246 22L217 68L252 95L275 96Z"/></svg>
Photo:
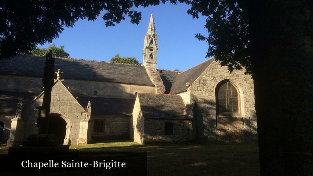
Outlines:
<svg viewBox="0 0 313 176"><path fill-rule="evenodd" d="M25 106L34 99L34 95L37 95L37 93L0 91L0 115L5 114L15 116L19 99L23 99L23 104Z"/></svg>

